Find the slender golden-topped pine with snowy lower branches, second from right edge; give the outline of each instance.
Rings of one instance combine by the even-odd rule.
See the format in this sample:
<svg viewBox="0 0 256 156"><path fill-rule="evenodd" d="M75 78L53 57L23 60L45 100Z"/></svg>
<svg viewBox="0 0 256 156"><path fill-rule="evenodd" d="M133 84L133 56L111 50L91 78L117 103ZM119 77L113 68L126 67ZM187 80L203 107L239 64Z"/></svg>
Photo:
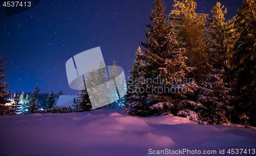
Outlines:
<svg viewBox="0 0 256 156"><path fill-rule="evenodd" d="M230 43L227 37L230 30L228 22L224 21L224 14L227 11L222 11L223 8L224 6L221 7L221 4L217 3L211 10L214 18L209 19L209 49L205 60L211 66L208 72L198 74L196 79L197 85L201 88L195 102L200 102L205 108L200 110L199 116L211 124L229 124L230 118L227 116L233 110L230 101L234 97L230 94L229 85L225 83L225 80L229 82L229 79L225 78L229 77L227 60Z"/></svg>

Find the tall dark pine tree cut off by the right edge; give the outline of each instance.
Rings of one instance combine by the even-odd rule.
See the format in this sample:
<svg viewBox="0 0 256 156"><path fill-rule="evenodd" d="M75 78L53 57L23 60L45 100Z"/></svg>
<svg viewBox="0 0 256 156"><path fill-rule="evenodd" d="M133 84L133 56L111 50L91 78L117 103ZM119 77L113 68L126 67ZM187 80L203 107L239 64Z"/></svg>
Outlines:
<svg viewBox="0 0 256 156"><path fill-rule="evenodd" d="M242 124L248 119L256 125L256 2L245 0L234 17L234 28L240 34L234 43L233 69L236 81L237 116Z"/></svg>

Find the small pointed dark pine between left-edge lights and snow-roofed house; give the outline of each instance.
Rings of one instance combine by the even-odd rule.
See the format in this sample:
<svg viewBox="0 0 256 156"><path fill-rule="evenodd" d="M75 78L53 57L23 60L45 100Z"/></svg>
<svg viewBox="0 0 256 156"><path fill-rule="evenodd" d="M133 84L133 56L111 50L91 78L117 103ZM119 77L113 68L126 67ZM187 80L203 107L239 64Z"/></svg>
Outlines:
<svg viewBox="0 0 256 156"><path fill-rule="evenodd" d="M28 107L28 113L39 113L39 106L40 106L40 99L38 98L38 95L40 94L40 89L38 88L38 85L35 87L35 91L31 94L30 100L29 100L29 107Z"/></svg>

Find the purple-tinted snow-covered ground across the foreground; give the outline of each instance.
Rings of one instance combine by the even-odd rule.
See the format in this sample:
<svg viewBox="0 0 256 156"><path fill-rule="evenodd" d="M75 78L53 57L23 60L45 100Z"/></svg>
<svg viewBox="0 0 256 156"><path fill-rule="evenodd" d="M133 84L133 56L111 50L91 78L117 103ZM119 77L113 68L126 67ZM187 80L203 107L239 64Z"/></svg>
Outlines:
<svg viewBox="0 0 256 156"><path fill-rule="evenodd" d="M2 156L256 155L255 149L254 127L200 125L174 116L133 117L122 109L0 116Z"/></svg>

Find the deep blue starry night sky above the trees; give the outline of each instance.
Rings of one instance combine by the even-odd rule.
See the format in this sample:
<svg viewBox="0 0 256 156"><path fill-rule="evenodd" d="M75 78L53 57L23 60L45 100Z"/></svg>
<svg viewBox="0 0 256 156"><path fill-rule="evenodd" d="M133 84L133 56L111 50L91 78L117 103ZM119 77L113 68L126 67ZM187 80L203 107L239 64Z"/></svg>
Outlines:
<svg viewBox="0 0 256 156"><path fill-rule="evenodd" d="M237 15L242 0L195 1L197 13L209 14L217 2L227 8L226 19ZM140 41L146 41L144 23L154 9L153 0L40 1L35 7L6 17L0 6L0 55L8 69L7 90L78 94L69 88L66 61L84 50L100 46L106 65L124 69L125 76L135 60ZM174 2L164 0L165 14ZM2 80L3 81L3 80Z"/></svg>

